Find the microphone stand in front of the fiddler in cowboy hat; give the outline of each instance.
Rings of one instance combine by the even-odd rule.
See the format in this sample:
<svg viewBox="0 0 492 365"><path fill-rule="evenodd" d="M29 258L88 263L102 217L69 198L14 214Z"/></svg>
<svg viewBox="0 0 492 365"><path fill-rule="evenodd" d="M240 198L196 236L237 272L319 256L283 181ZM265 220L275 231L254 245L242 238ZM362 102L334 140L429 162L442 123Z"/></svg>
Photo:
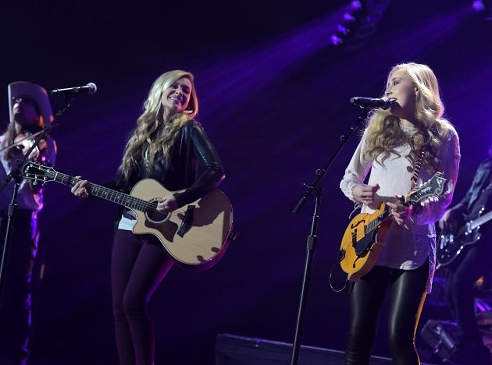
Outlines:
<svg viewBox="0 0 492 365"><path fill-rule="evenodd" d="M46 134L54 127L56 126L59 122L58 119L61 117L61 115L70 107L72 100L73 100L74 95L73 94L67 94L65 95L65 105L63 108L61 108L48 125L45 125L43 127L43 131L36 137L33 145L24 154L24 157L22 159L17 159L16 161L16 167L13 168L11 173L9 173L4 180L0 183L0 192L5 189L5 187L9 184L10 180L13 178L15 179L15 185L14 185L14 193L12 194L12 200L11 203L9 204L9 209L7 211L7 230L5 233L5 240L4 240L4 248L2 251L2 259L0 260L0 307L2 306L2 299L4 298L4 283L5 283L5 273L7 269L7 262L8 262L8 256L9 256L9 249L10 245L12 243L12 237L14 233L14 218L15 218L15 213L17 210L17 196L19 193L19 188L21 186L22 182L22 173L21 169L26 163L26 160L28 156L31 154L31 152L38 146L38 143L41 139L43 139Z"/></svg>

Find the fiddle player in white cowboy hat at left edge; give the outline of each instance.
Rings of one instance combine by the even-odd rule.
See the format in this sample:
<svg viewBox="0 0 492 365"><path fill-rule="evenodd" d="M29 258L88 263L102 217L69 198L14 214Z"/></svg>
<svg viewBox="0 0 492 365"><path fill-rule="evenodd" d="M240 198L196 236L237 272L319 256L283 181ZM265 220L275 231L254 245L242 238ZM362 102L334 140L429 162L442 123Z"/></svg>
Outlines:
<svg viewBox="0 0 492 365"><path fill-rule="evenodd" d="M25 81L9 84L10 123L0 135L0 181L16 166L29 147L29 139L53 119L48 94L39 85ZM32 140L32 139L31 139ZM16 142L22 144L17 145ZM54 164L56 143L46 137L29 159ZM0 247L4 244L7 209L12 200L14 180L0 192ZM38 247L37 214L43 208L42 189L23 181L18 195L14 231L10 244L4 291L0 303L0 359L25 363L29 353L31 326L31 275ZM3 248L3 247L2 247Z"/></svg>

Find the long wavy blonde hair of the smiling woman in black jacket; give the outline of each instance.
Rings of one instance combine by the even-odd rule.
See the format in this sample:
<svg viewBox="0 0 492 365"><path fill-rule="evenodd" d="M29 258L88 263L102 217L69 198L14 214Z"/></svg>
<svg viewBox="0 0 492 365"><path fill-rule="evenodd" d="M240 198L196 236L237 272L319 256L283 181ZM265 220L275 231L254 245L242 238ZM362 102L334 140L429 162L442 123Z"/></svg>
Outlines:
<svg viewBox="0 0 492 365"><path fill-rule="evenodd" d="M166 119L161 104L162 93L178 79L186 77L191 82L190 101L183 113L176 113ZM137 119L137 127L127 142L118 171L128 179L132 169L140 168L144 160L153 165L156 155L162 153L169 164L170 150L180 128L198 114L198 99L193 74L181 70L168 71L152 84L149 96L144 102L144 112Z"/></svg>

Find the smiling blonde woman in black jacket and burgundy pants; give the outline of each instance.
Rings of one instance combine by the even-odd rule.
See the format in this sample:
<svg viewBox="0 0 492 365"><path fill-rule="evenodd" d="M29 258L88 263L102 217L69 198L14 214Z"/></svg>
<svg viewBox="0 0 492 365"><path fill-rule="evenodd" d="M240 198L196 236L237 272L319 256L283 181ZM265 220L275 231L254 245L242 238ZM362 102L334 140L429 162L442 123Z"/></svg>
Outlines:
<svg viewBox="0 0 492 365"><path fill-rule="evenodd" d="M169 213L216 188L224 178L222 163L200 124L194 120L198 99L193 75L169 71L157 78L123 153L116 187L129 193L141 179L155 178L174 193L158 200ZM198 174L201 167L202 173ZM72 193L87 198L87 180ZM152 235L135 235L136 217L122 212L114 237L111 286L116 344L121 364L154 363L154 335L146 303L172 261Z"/></svg>

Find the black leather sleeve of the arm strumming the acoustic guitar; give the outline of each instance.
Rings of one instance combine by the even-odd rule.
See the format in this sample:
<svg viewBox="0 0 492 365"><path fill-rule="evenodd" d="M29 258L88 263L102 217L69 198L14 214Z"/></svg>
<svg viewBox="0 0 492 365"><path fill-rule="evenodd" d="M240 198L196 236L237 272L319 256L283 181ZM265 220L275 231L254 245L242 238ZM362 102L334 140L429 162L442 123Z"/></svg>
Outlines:
<svg viewBox="0 0 492 365"><path fill-rule="evenodd" d="M179 207L201 198L205 193L217 188L224 179L224 169L217 151L197 123L193 123L191 127L190 138L200 167L205 171L184 192L174 193Z"/></svg>

